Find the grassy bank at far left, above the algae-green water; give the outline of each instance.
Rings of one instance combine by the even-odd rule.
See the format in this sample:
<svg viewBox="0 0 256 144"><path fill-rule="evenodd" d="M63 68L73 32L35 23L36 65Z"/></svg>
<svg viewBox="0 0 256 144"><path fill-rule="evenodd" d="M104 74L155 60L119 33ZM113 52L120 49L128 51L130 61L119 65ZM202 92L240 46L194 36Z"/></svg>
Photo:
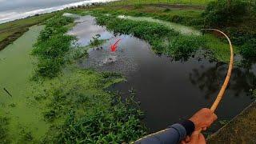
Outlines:
<svg viewBox="0 0 256 144"><path fill-rule="evenodd" d="M42 14L30 18L15 20L14 22L0 24L0 50L14 42L17 38L29 30L30 26L45 22L46 19L52 17L53 15L53 13Z"/></svg>

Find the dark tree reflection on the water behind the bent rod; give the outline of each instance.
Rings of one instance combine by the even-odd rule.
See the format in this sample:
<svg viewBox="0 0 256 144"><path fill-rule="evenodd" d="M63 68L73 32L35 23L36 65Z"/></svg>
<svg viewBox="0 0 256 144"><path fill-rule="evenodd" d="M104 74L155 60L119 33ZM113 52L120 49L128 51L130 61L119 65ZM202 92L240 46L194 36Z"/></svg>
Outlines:
<svg viewBox="0 0 256 144"><path fill-rule="evenodd" d="M250 89L254 89L256 76L252 69L253 64L249 67L242 65L242 67L234 66L230 84L227 90L232 90L234 96L241 96L242 93L249 94ZM215 66L206 69L200 66L198 69L193 69L190 73L190 82L198 86L199 90L203 91L205 98L209 98L211 94L215 94L220 90L220 86L226 77L228 65L222 62L216 62Z"/></svg>

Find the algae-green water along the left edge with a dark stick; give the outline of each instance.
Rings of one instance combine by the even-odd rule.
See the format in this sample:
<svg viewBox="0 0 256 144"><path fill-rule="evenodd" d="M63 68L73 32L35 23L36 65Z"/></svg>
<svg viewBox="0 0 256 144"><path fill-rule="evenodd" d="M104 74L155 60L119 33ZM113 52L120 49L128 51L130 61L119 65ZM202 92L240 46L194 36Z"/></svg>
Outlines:
<svg viewBox="0 0 256 144"><path fill-rule="evenodd" d="M22 130L30 131L34 138L39 138L48 129L39 106L30 101L35 89L30 77L36 62L30 51L42 29L43 26L32 26L0 52L0 114L10 118L9 133L13 142L19 142Z"/></svg>

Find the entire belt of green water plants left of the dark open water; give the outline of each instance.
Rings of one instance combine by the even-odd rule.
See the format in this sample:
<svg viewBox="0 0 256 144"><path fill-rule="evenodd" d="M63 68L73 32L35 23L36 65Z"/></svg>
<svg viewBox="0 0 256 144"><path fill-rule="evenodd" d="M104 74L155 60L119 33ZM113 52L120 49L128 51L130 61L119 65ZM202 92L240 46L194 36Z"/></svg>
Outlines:
<svg viewBox="0 0 256 144"><path fill-rule="evenodd" d="M65 34L73 21L60 15L50 19L32 51L38 57L38 76L50 78L40 86L45 88L34 94L35 101L46 103L43 118L51 124L42 142L130 142L141 137L146 130L138 106L104 90L123 81L121 74L99 74L66 65L103 42L97 34L90 45L77 46L75 38ZM68 67L60 76L64 66ZM33 141L30 133L24 136Z"/></svg>

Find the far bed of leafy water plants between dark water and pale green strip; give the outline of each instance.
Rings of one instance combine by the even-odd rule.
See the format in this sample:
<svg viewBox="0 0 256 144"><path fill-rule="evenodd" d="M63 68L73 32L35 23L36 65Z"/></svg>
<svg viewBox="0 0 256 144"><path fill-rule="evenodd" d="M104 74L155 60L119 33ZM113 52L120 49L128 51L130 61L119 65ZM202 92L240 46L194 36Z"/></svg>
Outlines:
<svg viewBox="0 0 256 144"><path fill-rule="evenodd" d="M176 58L190 56L198 48L205 46L200 36L186 36L170 27L155 22L133 21L96 14L99 25L106 26L115 33L132 34L150 43L154 52L168 54Z"/></svg>

